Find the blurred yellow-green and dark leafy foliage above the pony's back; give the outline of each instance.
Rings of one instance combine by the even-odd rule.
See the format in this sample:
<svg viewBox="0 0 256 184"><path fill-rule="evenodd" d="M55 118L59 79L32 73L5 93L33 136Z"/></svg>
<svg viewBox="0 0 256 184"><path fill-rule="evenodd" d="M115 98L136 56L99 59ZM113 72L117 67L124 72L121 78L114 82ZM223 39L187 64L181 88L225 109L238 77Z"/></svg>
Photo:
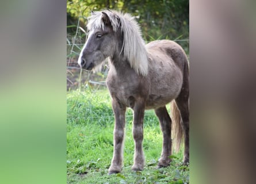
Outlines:
<svg viewBox="0 0 256 184"><path fill-rule="evenodd" d="M179 40L189 38L189 1L188 0L68 0L67 33L74 36L79 26L86 30L90 11L102 9L120 10L136 17L142 28L144 40ZM81 41L85 34L79 33ZM84 42L83 42L84 43ZM188 41L179 43L188 53Z"/></svg>

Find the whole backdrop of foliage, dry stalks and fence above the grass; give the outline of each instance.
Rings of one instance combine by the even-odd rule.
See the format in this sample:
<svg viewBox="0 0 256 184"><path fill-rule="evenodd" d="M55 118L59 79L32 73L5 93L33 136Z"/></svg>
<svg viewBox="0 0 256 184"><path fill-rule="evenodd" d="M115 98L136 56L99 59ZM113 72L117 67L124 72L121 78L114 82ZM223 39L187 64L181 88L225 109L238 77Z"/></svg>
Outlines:
<svg viewBox="0 0 256 184"><path fill-rule="evenodd" d="M168 39L177 41L189 56L189 1L67 1L67 90L101 88L105 86L108 67L101 73L80 71L77 64L79 52L87 36L87 17L90 11L114 9L132 14L139 22L146 43Z"/></svg>

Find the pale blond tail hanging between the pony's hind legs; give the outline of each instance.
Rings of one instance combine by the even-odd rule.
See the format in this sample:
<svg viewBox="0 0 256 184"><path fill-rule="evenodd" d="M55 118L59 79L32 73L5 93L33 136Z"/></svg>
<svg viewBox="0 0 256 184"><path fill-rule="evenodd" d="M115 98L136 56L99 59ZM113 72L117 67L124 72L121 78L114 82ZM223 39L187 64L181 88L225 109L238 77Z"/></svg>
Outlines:
<svg viewBox="0 0 256 184"><path fill-rule="evenodd" d="M181 127L181 115L179 114L179 109L174 100L171 102L171 121L171 134L174 145L173 148L174 152L178 152L179 146L181 145L181 140L183 139L183 129Z"/></svg>

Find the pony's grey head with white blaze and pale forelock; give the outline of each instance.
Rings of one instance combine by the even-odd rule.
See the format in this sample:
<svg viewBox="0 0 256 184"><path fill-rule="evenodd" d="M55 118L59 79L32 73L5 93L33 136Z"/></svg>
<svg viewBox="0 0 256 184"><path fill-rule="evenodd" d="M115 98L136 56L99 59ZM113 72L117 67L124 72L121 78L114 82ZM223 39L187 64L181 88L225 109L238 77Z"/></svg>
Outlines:
<svg viewBox="0 0 256 184"><path fill-rule="evenodd" d="M106 57L113 56L120 42L119 17L111 11L91 13L87 24L89 36L78 58L78 64L92 70L100 65Z"/></svg>

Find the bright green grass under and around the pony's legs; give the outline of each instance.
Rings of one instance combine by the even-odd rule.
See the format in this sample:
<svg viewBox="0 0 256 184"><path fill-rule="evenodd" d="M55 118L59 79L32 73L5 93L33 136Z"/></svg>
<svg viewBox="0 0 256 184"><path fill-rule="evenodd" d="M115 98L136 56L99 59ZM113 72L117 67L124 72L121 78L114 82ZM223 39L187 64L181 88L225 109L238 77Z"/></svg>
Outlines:
<svg viewBox="0 0 256 184"><path fill-rule="evenodd" d="M108 175L113 154L114 117L107 90L67 93L67 183L189 183L189 166L182 152L172 156L167 168L156 169L162 150L162 133L154 111L144 118L143 149L146 166L132 172L132 110L127 110L124 167Z"/></svg>

